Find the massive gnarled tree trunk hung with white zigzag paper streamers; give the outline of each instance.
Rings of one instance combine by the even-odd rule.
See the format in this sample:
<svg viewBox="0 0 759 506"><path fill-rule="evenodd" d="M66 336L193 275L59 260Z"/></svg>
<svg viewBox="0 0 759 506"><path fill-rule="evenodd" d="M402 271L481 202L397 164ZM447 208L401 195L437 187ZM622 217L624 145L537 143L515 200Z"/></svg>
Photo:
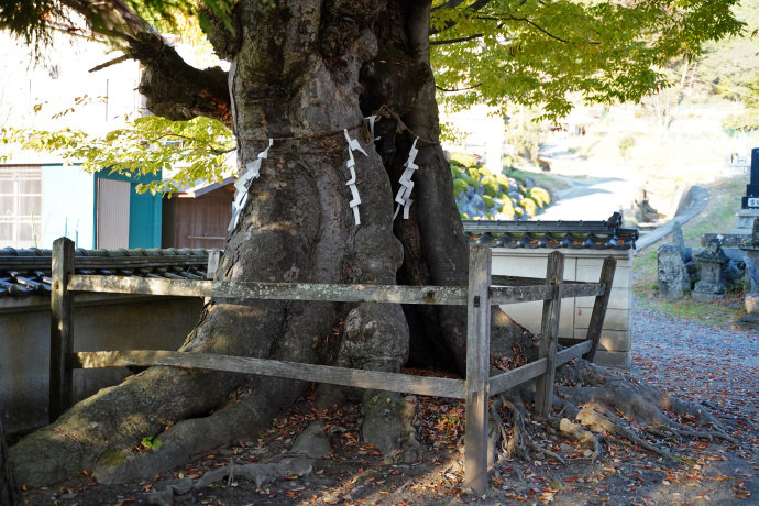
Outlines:
<svg viewBox="0 0 759 506"><path fill-rule="evenodd" d="M466 283L466 239L437 142L429 10L429 1L396 0L237 6L237 35L219 31L213 42L232 64L230 110L241 173L270 139L274 143L250 187L218 279ZM151 86L158 86L162 79L147 74ZM378 123L383 139L375 150L363 118L383 106L392 114ZM350 207L344 130L366 151L353 152L361 224ZM394 222L397 180L417 136L411 216ZM464 371L462 308L405 314L413 329L424 329L414 332L417 358ZM504 315L496 318L503 324L495 341L505 338L499 354L506 354L521 332ZM343 321L339 345L333 329ZM409 330L404 309L394 305L216 299L182 350L322 363L337 355L338 364L397 372L408 359ZM261 432L307 386L152 367L22 440L11 449L14 471L30 485L77 469L92 469L101 482L150 476ZM161 435L160 450L133 452L154 435Z"/></svg>

